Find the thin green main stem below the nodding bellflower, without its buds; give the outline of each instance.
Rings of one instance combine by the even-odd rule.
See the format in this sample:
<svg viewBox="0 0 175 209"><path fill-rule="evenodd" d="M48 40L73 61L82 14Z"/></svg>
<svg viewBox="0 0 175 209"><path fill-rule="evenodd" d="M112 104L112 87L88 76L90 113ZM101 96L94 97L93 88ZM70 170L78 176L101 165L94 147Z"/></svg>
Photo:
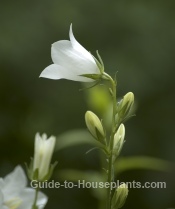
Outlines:
<svg viewBox="0 0 175 209"><path fill-rule="evenodd" d="M112 161L112 150L114 144L114 135L116 131L116 123L115 123L115 116L116 116L116 107L117 107L117 98L116 98L116 81L114 81L108 74L104 73L104 78L109 80L111 87L112 87L112 100L113 100L113 112L112 112L112 127L111 127L111 136L109 140L109 150L110 154L108 157L108 183L111 185L111 182L114 180L114 169L113 169L113 161ZM112 198L112 190L111 186L109 186L107 191L107 209L111 209L111 198Z"/></svg>

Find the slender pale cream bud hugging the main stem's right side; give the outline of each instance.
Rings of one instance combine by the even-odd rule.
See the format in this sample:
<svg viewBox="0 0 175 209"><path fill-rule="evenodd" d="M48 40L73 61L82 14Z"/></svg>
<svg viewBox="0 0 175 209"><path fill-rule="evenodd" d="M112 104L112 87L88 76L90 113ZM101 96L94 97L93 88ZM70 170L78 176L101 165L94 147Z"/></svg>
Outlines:
<svg viewBox="0 0 175 209"><path fill-rule="evenodd" d="M123 147L124 138L125 138L125 126L124 124L121 124L114 135L113 161L115 161L117 156L120 154L120 151Z"/></svg>

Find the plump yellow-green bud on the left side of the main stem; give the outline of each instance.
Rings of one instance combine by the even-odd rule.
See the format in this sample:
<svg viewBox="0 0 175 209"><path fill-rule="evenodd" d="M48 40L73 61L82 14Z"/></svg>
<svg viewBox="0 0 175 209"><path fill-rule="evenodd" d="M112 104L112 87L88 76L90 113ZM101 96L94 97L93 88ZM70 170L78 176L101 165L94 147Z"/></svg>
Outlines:
<svg viewBox="0 0 175 209"><path fill-rule="evenodd" d="M106 144L104 129L99 118L93 112L87 111L85 122L92 136L101 143Z"/></svg>

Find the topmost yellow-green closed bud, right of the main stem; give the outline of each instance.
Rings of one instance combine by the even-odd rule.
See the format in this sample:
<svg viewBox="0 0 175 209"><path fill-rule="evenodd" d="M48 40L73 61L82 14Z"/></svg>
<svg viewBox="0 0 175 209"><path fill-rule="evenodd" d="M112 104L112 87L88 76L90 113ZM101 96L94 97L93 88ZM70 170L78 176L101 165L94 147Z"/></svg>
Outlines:
<svg viewBox="0 0 175 209"><path fill-rule="evenodd" d="M134 104L134 94L128 92L119 103L118 114L123 119L128 116L132 106Z"/></svg>

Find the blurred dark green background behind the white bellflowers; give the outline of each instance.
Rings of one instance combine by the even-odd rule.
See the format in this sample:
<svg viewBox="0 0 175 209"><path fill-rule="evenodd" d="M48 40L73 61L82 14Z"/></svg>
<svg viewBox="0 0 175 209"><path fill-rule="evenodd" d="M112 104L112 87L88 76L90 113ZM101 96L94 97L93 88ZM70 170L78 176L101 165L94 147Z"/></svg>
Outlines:
<svg viewBox="0 0 175 209"><path fill-rule="evenodd" d="M99 50L106 71L117 71L118 94L132 91L136 117L126 123L122 157L175 161L175 2L173 0L0 1L0 176L29 162L36 132L59 136L85 129L92 105L81 83L39 79L52 63L50 48L69 39L69 26L91 53ZM78 136L77 136L78 137ZM58 137L58 146L61 138ZM99 153L88 144L55 152L62 169L101 171ZM133 169L122 181L165 181L166 189L130 189L125 208L175 207L174 169ZM47 208L97 208L90 189L47 189Z"/></svg>

